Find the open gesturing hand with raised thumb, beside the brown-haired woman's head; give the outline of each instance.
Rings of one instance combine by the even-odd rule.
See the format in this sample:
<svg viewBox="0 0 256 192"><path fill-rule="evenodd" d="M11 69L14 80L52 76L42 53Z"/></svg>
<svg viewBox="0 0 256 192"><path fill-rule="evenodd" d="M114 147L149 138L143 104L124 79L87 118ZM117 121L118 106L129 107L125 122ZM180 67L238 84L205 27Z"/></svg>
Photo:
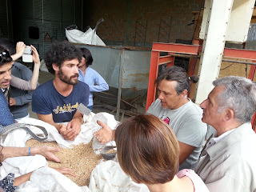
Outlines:
<svg viewBox="0 0 256 192"><path fill-rule="evenodd" d="M114 141L114 130L111 130L109 126L101 121L97 121L99 126L102 126L101 130L94 133L94 136L98 139L98 142L105 144L106 142Z"/></svg>

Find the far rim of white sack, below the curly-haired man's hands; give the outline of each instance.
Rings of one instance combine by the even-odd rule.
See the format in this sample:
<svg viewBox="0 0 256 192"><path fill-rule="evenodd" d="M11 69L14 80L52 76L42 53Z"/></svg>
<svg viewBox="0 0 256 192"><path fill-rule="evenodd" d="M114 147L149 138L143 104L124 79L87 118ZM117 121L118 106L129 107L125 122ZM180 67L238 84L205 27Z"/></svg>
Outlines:
<svg viewBox="0 0 256 192"><path fill-rule="evenodd" d="M78 134L78 136L74 139L74 141L68 141L65 140L61 134L58 133L58 130L51 126L49 123L42 122L35 118L24 118L22 121L18 123L29 123L34 126L30 126L30 130L34 132L34 134L43 134L42 130L35 126L43 126L47 132L48 132L48 138L46 139L46 142L57 142L58 146L64 147L64 148L72 148L71 145L78 145L80 143L87 144L91 141L91 139L94 137L94 132L97 130L100 130L102 127L98 125L97 120L100 120L101 122L106 123L108 126L110 126L111 129L115 129L118 125L118 122L114 119L114 115L108 114L108 113L90 113L90 118L87 119L87 122L83 123L81 126L81 132ZM67 124L66 122L65 124ZM7 134L5 140L0 141L2 146L26 146L26 141L28 139L32 138L30 134L27 134L25 130L22 129L16 129L10 131L9 134ZM96 139L97 140L97 139ZM114 142L108 143L108 145L111 145ZM115 143L114 143L115 144ZM113 145L114 145L113 144ZM100 143L95 142L95 146L93 146L93 149L98 149L102 147Z"/></svg>

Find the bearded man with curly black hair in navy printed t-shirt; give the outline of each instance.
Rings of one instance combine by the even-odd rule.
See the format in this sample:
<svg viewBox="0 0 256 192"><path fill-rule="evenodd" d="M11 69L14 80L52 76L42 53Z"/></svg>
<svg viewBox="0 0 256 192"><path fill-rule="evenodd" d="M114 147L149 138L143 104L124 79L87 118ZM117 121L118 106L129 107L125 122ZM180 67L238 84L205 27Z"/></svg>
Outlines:
<svg viewBox="0 0 256 192"><path fill-rule="evenodd" d="M43 122L55 126L63 138L73 141L80 133L82 114L77 110L82 102L88 105L89 86L78 81L78 65L82 52L70 42L54 42L46 52L45 62L54 79L34 90L32 110ZM67 126L61 122L69 122Z"/></svg>

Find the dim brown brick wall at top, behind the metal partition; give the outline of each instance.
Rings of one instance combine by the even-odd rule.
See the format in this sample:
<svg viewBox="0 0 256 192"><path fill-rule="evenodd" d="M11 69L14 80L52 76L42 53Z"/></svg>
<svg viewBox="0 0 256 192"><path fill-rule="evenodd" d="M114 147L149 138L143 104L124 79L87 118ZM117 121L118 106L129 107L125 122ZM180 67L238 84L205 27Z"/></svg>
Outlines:
<svg viewBox="0 0 256 192"><path fill-rule="evenodd" d="M97 34L107 45L134 46L137 20L146 26L145 46L151 46L152 42L168 42L166 38L170 38L169 42L175 42L177 38L191 40L193 25L187 25L194 19L192 11L200 10L201 3L202 0L94 0L84 2L84 26L94 28L98 19L104 18L105 22L98 26ZM165 34L166 38L160 36L158 41L161 19L170 23L170 37ZM162 26L169 31L168 26ZM136 38L136 46L143 41Z"/></svg>

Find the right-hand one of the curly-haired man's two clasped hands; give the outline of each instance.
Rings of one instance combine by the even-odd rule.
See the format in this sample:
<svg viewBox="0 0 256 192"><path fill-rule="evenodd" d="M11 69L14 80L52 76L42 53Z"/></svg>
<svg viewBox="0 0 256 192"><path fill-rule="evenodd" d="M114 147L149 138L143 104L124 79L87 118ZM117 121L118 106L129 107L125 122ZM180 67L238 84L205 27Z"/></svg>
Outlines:
<svg viewBox="0 0 256 192"><path fill-rule="evenodd" d="M74 141L74 139L78 136L81 131L81 118L73 118L69 124L66 126L66 138L70 141Z"/></svg>

